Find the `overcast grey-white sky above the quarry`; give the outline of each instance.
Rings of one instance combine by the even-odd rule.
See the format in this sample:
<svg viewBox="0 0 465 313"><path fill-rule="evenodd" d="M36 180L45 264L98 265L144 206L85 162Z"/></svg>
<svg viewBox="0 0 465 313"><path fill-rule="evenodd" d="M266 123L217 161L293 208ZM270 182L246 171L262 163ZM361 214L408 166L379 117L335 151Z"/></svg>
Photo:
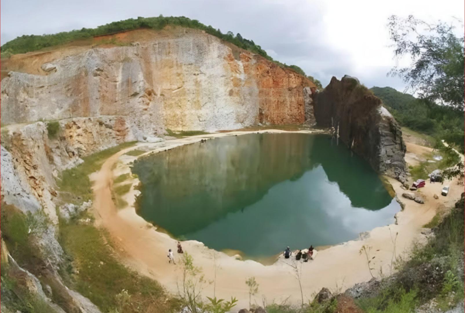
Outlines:
<svg viewBox="0 0 465 313"><path fill-rule="evenodd" d="M323 86L332 76L349 74L367 87L400 91L402 81L386 77L399 62L388 47L387 18L465 20L464 0L2 0L0 6L1 44L23 34L184 15L254 40L275 60L302 67ZM463 33L461 23L455 24Z"/></svg>

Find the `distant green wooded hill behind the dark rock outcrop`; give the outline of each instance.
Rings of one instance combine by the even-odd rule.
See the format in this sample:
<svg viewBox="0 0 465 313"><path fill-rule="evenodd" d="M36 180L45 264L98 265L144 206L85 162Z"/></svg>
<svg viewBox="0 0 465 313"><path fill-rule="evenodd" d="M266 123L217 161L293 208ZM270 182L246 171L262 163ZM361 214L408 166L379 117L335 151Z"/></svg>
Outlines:
<svg viewBox="0 0 465 313"><path fill-rule="evenodd" d="M370 90L383 101L400 125L444 139L464 152L463 111L415 98L391 87L372 87Z"/></svg>

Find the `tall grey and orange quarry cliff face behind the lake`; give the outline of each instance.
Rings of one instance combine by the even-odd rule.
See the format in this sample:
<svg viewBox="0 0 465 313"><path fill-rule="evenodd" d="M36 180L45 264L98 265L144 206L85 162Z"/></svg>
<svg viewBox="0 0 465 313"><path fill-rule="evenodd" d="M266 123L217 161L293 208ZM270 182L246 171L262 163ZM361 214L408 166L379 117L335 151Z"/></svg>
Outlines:
<svg viewBox="0 0 465 313"><path fill-rule="evenodd" d="M142 140L165 129L304 122L303 88L314 87L305 77L201 31L145 30L133 41L137 32L119 34L116 47L13 56L2 68L11 70L1 81L2 123L121 116Z"/></svg>

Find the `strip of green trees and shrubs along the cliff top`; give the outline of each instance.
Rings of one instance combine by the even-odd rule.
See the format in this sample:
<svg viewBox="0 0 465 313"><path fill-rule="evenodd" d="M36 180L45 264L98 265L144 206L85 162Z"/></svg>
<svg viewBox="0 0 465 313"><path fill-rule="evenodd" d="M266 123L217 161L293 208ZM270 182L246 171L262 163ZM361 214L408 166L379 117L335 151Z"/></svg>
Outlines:
<svg viewBox="0 0 465 313"><path fill-rule="evenodd" d="M305 72L296 65L286 65L280 63L279 61L273 60L273 58L269 56L266 51L263 50L259 45L255 44L253 40L243 38L240 33L237 33L235 36L233 32L222 33L219 28L215 29L210 25L206 26L205 24L200 23L198 20L191 20L184 16L165 17L163 15L159 15L158 17L138 17L137 19L127 19L108 23L96 28L81 28L79 30L72 30L70 32L61 32L55 34L22 35L16 39L8 41L3 46L1 46L1 57L8 58L12 54L16 53L27 53L46 47L66 44L73 40L82 40L95 36L109 35L138 28L160 30L167 25L203 30L210 35L230 42L239 48L248 50L252 53L257 53L267 60L277 63L280 67L290 68L294 72L306 76Z"/></svg>

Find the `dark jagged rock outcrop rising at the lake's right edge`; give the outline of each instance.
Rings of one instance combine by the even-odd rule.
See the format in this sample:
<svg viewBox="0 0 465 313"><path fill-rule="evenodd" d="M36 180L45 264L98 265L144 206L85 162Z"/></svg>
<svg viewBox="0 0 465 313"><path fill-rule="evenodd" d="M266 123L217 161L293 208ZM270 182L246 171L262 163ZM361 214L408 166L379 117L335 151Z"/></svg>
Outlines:
<svg viewBox="0 0 465 313"><path fill-rule="evenodd" d="M339 139L378 173L405 176L405 144L399 124L365 86L353 77L333 77L313 99L320 127L339 129Z"/></svg>

